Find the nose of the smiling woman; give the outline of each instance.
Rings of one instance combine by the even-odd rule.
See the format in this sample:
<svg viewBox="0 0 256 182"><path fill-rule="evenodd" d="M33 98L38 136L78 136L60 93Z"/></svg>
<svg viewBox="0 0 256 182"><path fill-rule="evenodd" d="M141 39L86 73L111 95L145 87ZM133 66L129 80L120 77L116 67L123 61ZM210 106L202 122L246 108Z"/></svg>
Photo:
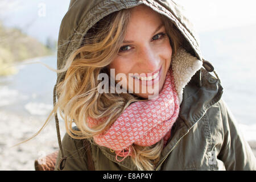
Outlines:
<svg viewBox="0 0 256 182"><path fill-rule="evenodd" d="M151 47L143 47L138 53L138 61L143 73L152 73L159 68L160 57Z"/></svg>

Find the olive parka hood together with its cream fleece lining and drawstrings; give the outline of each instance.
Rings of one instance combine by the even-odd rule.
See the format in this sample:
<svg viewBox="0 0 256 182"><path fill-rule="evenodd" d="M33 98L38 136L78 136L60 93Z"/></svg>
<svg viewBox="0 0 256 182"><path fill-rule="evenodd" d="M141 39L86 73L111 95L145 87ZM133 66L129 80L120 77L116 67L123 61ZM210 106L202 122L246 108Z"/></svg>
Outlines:
<svg viewBox="0 0 256 182"><path fill-rule="evenodd" d="M199 39L193 25L189 19L183 13L183 7L178 5L172 0L71 0L69 9L61 21L58 47L57 47L57 69L64 67L67 58L74 49L80 47L82 39L86 32L98 22L98 20L104 18L104 16L119 11L122 9L129 9L134 6L144 4L151 7L159 14L167 16L172 23L178 28L181 34L187 40L187 50L180 49L177 56L172 59L172 69L174 75L176 74L175 84L179 94L180 103L182 101L182 94L184 86L191 80L192 76L204 65L205 69L212 70L212 65L203 60L200 51ZM189 49L189 50L188 50ZM189 52L189 53L188 53ZM183 75L183 76L180 76ZM56 85L63 80L65 72L57 74ZM201 78L199 76L199 85ZM53 104L56 102L56 85L53 90ZM60 133L59 133L59 121L57 114L55 113L57 136L60 146L61 158L60 168L65 163L65 157L61 147Z"/></svg>

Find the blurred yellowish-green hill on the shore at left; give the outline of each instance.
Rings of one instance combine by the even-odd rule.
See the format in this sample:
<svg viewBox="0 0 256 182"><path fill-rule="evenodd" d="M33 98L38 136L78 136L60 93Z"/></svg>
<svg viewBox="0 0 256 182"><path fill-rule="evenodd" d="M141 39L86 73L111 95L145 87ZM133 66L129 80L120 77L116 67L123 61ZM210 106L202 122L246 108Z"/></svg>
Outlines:
<svg viewBox="0 0 256 182"><path fill-rule="evenodd" d="M0 22L0 76L17 72L14 67L8 67L10 64L51 55L55 44L48 40L48 46L45 46L35 38L24 34L19 28L7 28Z"/></svg>

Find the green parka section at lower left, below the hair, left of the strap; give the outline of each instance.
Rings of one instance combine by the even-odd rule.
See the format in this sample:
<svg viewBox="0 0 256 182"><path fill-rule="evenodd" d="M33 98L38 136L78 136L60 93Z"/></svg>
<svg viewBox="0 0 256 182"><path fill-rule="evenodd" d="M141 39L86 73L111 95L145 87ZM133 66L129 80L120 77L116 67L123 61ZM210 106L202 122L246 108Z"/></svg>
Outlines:
<svg viewBox="0 0 256 182"><path fill-rule="evenodd" d="M61 144L63 146L64 156L67 156L63 171L87 171L85 152L81 140L73 139L65 133ZM57 167L60 162L60 156L61 153L59 150L55 171L58 171Z"/></svg>

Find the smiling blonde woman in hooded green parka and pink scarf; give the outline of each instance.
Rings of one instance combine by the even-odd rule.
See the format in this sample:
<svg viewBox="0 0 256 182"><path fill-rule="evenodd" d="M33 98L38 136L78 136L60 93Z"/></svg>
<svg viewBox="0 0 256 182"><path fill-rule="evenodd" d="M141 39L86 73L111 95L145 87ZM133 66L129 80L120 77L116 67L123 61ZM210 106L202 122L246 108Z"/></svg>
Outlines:
<svg viewBox="0 0 256 182"><path fill-rule="evenodd" d="M71 1L57 67L56 170L256 169L175 2Z"/></svg>

